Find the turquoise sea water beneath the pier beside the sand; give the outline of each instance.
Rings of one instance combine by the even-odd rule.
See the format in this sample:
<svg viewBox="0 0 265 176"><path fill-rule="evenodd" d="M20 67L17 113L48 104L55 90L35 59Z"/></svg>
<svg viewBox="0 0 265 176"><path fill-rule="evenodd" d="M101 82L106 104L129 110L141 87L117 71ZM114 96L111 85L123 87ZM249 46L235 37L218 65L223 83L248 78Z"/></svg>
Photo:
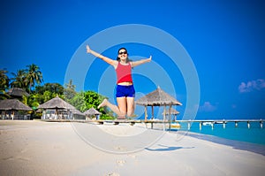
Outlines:
<svg viewBox="0 0 265 176"><path fill-rule="evenodd" d="M202 125L200 129L199 122L193 122L190 130L187 123L181 123L178 132L187 132L186 134L201 140L221 143L231 146L234 149L243 149L253 151L265 156L265 123L261 128L260 122L250 122L248 128L246 122L239 122L235 126L235 122L227 122L225 128L223 124ZM174 129L172 129L174 131Z"/></svg>

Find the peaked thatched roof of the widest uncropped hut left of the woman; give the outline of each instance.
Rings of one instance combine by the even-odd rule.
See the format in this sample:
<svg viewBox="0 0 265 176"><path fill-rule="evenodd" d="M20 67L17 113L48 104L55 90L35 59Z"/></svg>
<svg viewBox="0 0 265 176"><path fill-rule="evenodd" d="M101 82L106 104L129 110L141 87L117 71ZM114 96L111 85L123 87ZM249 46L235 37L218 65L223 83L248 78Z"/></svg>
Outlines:
<svg viewBox="0 0 265 176"><path fill-rule="evenodd" d="M42 103L38 106L38 109L61 109L61 110L75 110L70 103L65 102L60 97L50 99L48 102Z"/></svg>

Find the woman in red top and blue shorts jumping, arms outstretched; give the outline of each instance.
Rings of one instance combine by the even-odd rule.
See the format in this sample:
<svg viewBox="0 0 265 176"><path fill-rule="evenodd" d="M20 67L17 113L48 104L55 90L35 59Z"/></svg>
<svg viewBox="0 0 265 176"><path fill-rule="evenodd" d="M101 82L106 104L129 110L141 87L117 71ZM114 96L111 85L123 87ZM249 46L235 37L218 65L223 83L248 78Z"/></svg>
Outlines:
<svg viewBox="0 0 265 176"><path fill-rule="evenodd" d="M121 48L117 52L117 60L114 60L109 57L104 57L94 50L91 50L88 45L87 53L91 53L95 57L99 57L106 63L112 65L117 74L117 105L110 103L107 99L104 99L98 108L108 106L111 111L114 111L117 114L117 119L125 119L125 116L132 117L134 113L135 97L132 68L150 62L152 60L152 56L139 61L130 61L127 50L125 48Z"/></svg>

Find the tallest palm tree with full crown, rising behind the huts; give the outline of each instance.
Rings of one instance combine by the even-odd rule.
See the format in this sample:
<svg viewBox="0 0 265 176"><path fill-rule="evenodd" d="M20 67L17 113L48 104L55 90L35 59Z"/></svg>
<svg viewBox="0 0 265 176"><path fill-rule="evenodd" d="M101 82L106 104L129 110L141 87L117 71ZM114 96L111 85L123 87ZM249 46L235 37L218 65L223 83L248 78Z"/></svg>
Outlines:
<svg viewBox="0 0 265 176"><path fill-rule="evenodd" d="M34 88L35 83L40 84L43 81L42 72L40 71L40 67L38 65L27 65L27 75L26 75L26 82L29 89Z"/></svg>

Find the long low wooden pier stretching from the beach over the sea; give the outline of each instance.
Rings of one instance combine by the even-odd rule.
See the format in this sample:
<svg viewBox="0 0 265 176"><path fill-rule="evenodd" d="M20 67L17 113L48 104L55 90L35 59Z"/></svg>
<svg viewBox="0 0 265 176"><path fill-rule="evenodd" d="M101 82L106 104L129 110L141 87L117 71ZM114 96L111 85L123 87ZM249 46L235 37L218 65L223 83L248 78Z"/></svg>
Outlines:
<svg viewBox="0 0 265 176"><path fill-rule="evenodd" d="M157 119L148 119L148 120L143 120L143 119L99 119L99 120L81 120L81 119L44 119L43 121L48 121L48 122L80 122L80 123L91 123L91 124L113 124L113 125L118 125L122 123L127 123L133 126L136 123L145 123L145 124L151 124L151 128L153 128L154 124L168 124L169 128L174 124L187 124L188 130L191 128L193 123L199 123L200 129L202 126L211 126L214 128L215 125L217 124L222 124L223 128L226 127L227 123L234 123L235 127L239 126L239 123L246 123L246 126L250 128L251 123L254 122L259 122L261 128L263 128L263 119L201 119L201 120L157 120Z"/></svg>

